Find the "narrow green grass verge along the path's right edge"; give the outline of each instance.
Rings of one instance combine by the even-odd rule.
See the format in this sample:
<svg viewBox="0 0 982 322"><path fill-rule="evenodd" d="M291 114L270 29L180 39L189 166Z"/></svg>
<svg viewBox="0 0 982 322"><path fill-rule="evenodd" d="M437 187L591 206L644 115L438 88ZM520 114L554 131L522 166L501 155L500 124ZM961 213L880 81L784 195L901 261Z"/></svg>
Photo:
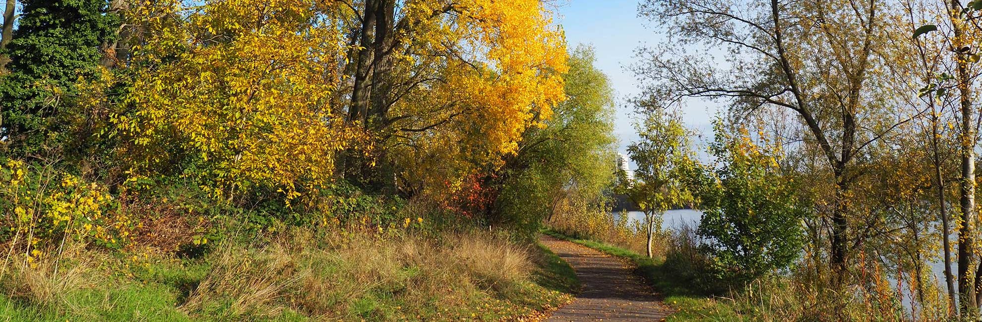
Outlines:
<svg viewBox="0 0 982 322"><path fill-rule="evenodd" d="M733 305L717 300L712 296L701 295L692 285L674 278L662 260L648 258L604 242L576 239L550 229L544 230L542 233L558 239L576 242L611 255L626 257L633 261L637 265L637 273L664 296L666 304L678 310L669 316L667 321L745 320L737 314Z"/></svg>

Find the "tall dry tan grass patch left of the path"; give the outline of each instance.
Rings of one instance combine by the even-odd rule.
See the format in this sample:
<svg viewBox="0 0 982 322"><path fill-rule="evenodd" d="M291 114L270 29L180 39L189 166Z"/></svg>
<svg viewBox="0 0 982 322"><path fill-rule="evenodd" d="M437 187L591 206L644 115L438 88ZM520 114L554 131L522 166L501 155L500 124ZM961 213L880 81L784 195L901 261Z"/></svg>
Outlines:
<svg viewBox="0 0 982 322"><path fill-rule="evenodd" d="M295 230L263 246L219 245L211 271L182 308L234 319L288 311L325 320L518 318L543 308L521 296L531 288L531 260L526 247L488 234L423 239ZM536 292L546 301L560 297Z"/></svg>

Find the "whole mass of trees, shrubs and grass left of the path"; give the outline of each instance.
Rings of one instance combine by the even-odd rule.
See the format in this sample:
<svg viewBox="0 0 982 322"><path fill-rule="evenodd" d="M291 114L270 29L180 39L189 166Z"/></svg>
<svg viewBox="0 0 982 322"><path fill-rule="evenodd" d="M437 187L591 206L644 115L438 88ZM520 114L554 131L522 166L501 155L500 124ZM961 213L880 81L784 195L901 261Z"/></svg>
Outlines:
<svg viewBox="0 0 982 322"><path fill-rule="evenodd" d="M0 316L531 320L613 91L530 1L8 1ZM16 22L16 23L15 23Z"/></svg>

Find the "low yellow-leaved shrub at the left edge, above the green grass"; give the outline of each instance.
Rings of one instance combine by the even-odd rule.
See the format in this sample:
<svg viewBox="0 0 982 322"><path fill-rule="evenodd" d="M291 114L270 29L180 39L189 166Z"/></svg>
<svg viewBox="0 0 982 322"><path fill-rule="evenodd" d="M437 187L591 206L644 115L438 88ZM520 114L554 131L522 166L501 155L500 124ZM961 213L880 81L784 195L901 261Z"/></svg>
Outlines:
<svg viewBox="0 0 982 322"><path fill-rule="evenodd" d="M119 246L131 235L134 221L113 211L115 200L105 187L50 169L33 169L23 161L0 165L0 238L10 241L28 263L48 254L46 248L70 239Z"/></svg>

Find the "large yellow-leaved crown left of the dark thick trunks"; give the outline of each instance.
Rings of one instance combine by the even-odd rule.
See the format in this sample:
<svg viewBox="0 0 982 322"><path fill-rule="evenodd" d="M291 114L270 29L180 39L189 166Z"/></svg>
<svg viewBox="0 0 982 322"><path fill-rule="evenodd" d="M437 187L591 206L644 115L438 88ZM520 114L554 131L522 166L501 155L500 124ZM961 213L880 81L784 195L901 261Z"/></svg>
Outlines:
<svg viewBox="0 0 982 322"><path fill-rule="evenodd" d="M362 137L331 102L345 52L327 18L334 7L244 0L173 8L190 15L188 24L161 24L136 48L133 64L152 68L130 91L136 113L113 119L135 142L124 152L135 174L193 155L192 175L214 180L219 195L277 188L290 199L329 180L335 154Z"/></svg>

